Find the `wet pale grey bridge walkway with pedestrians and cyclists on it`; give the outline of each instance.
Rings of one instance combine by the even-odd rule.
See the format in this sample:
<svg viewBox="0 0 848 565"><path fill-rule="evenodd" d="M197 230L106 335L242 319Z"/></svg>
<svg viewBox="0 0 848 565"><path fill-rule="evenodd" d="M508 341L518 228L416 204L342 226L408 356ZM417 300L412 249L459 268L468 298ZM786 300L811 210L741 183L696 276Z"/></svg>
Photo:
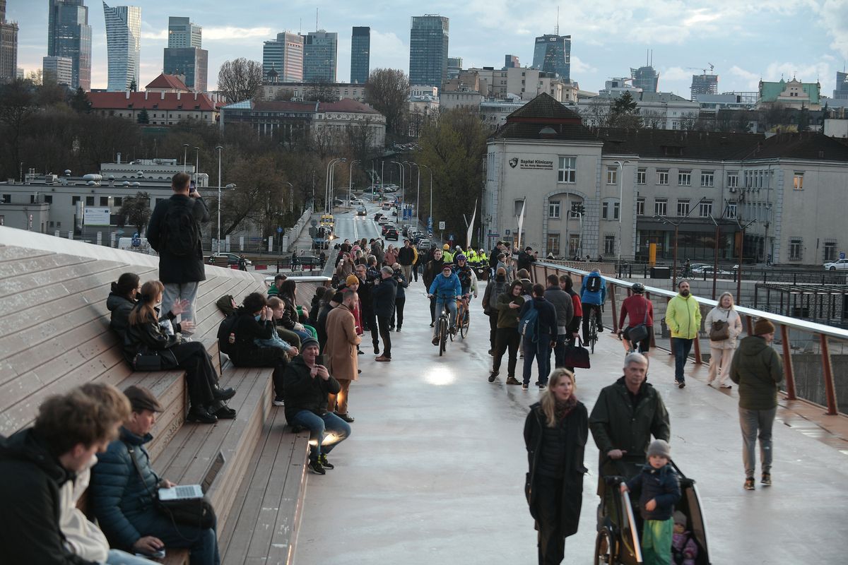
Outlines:
<svg viewBox="0 0 848 565"><path fill-rule="evenodd" d="M349 221L357 220L340 220L338 231L353 239ZM360 237L377 233L370 219L358 220ZM487 382L488 319L479 298L468 340L449 343L438 357L423 293L420 280L407 291L404 329L392 335L392 363L374 362L370 338L363 344L362 374L350 391L353 434L332 452L334 470L309 476L300 565L536 561L523 496L522 429L539 393L504 384L506 359L499 379ZM622 374L622 357L620 342L605 333L594 368L577 372L577 396L590 411L600 388ZM795 415L781 410L774 485L743 490L735 389L706 386L706 366L687 367L683 390L672 377L672 357L655 352L650 381L671 413L672 456L698 483L711 562L845 562L845 454L784 425ZM566 541L566 562L591 563L594 554L598 454L591 435L589 444L581 525Z"/></svg>

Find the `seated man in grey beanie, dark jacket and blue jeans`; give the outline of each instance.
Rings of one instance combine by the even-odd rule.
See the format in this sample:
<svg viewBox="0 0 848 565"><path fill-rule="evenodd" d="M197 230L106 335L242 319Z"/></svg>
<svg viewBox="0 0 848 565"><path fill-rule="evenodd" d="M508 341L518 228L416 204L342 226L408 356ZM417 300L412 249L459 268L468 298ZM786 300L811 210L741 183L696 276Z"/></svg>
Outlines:
<svg viewBox="0 0 848 565"><path fill-rule="evenodd" d="M342 387L326 367L315 363L318 340L307 337L300 351L283 374L286 421L310 430L310 468L326 474L325 469L334 468L327 453L350 435L349 424L326 409L327 395L338 394Z"/></svg>

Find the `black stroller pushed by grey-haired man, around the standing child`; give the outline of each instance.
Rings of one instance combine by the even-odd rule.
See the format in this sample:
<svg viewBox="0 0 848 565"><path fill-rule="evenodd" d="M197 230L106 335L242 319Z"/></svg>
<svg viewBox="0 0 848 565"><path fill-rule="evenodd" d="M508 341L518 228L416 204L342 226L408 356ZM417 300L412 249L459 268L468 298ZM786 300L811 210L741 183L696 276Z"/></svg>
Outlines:
<svg viewBox="0 0 848 565"><path fill-rule="evenodd" d="M675 510L686 515L691 540L694 540L698 547L695 565L710 565L706 522L701 512L695 480L687 478L673 461L670 463L680 477L681 496ZM594 565L639 565L643 562L639 543L642 519L633 512L629 493L622 493L620 490L625 480L626 478L621 475L602 478L602 488L611 490L611 512L606 512L605 493L601 493L598 507L598 535L594 542Z"/></svg>

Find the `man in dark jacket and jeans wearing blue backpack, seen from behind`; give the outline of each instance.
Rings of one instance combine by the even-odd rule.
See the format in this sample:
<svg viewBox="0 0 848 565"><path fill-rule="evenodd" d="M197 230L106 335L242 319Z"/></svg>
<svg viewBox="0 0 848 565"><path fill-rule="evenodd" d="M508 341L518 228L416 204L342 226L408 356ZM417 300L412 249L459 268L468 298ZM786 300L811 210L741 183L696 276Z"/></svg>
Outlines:
<svg viewBox="0 0 848 565"><path fill-rule="evenodd" d="M548 385L550 350L556 346L556 308L544 297L544 285L533 285L533 300L524 302L518 313L518 331L524 348L524 382L530 387L533 357L538 365L538 388Z"/></svg>

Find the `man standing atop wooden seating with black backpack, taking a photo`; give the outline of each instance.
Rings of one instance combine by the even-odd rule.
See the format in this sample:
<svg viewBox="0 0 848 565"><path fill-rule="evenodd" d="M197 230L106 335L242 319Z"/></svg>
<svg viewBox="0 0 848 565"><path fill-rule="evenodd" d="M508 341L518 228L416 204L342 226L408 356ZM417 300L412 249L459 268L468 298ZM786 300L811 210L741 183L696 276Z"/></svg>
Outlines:
<svg viewBox="0 0 848 565"><path fill-rule="evenodd" d="M147 235L150 246L159 253L159 280L165 285L162 312L187 300L189 306L181 314L181 321L194 322L198 284L206 280L200 224L209 221L209 208L197 188L189 189L191 180L185 173L173 176L170 187L174 194L156 204Z"/></svg>

